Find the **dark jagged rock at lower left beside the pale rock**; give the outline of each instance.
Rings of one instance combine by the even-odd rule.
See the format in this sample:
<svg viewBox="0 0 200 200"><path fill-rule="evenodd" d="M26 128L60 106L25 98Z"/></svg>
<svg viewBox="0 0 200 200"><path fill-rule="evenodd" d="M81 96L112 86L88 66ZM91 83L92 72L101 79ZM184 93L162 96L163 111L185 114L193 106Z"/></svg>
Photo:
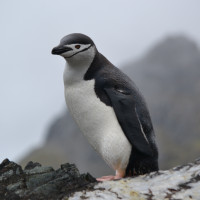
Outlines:
<svg viewBox="0 0 200 200"><path fill-rule="evenodd" d="M80 174L76 166L69 163L58 170L33 162L23 170L8 159L0 164L0 200L62 199L92 187L95 182L90 174Z"/></svg>

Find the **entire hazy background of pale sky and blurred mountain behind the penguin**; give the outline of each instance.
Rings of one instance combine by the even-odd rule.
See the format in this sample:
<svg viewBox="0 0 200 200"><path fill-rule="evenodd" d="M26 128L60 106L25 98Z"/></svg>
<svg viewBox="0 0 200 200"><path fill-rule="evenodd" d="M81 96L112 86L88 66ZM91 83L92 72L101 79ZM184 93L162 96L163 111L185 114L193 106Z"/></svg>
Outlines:
<svg viewBox="0 0 200 200"><path fill-rule="evenodd" d="M0 162L109 172L67 113L65 61L51 55L74 32L90 36L142 91L160 165L192 161L200 150L199 8L198 0L0 1Z"/></svg>

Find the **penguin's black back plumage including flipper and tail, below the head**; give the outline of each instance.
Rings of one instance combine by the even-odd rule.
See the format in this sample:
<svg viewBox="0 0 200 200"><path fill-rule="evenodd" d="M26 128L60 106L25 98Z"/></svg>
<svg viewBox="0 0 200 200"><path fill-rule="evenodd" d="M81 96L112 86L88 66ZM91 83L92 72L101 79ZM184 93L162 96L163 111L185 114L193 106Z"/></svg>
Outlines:
<svg viewBox="0 0 200 200"><path fill-rule="evenodd" d="M132 145L126 175L157 171L158 151L151 118L135 84L99 52L84 76L84 80L91 79L95 79L97 97L107 106L113 107L118 122ZM142 136L140 123L149 143Z"/></svg>

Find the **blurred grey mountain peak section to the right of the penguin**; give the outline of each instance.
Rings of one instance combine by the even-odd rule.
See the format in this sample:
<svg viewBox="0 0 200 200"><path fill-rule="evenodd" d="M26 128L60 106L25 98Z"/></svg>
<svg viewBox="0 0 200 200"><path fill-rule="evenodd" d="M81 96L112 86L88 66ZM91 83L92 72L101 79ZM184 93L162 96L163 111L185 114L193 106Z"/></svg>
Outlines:
<svg viewBox="0 0 200 200"><path fill-rule="evenodd" d="M200 149L200 50L170 36L124 67L143 93L160 149L160 165L187 163ZM189 151L187 150L189 149Z"/></svg>

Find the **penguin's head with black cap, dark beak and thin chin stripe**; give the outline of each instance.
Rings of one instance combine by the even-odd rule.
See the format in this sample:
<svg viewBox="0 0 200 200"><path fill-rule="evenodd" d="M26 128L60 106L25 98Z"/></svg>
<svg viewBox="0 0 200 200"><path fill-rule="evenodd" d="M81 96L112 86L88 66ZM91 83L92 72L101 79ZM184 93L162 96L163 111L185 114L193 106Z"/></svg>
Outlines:
<svg viewBox="0 0 200 200"><path fill-rule="evenodd" d="M52 54L60 55L68 62L93 59L97 50L92 39L84 34L72 33L61 39L52 49Z"/></svg>

